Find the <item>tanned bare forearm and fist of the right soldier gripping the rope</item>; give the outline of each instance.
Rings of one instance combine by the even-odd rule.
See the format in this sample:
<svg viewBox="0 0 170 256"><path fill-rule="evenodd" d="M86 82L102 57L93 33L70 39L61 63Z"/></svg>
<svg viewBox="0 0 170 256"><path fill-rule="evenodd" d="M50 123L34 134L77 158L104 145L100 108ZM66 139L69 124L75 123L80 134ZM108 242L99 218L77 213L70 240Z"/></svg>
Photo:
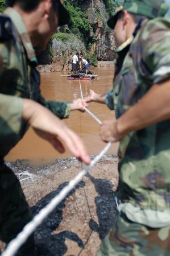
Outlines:
<svg viewBox="0 0 170 256"><path fill-rule="evenodd" d="M104 121L100 135L105 142L117 142L131 131L170 119L170 80L155 84L147 94L117 120Z"/></svg>

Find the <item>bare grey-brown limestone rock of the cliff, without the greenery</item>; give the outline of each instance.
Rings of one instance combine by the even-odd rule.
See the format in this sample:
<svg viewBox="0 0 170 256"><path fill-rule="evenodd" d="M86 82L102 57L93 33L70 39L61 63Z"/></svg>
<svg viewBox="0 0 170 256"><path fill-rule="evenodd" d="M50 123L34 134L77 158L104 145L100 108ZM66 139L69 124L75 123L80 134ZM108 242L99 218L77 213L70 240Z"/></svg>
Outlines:
<svg viewBox="0 0 170 256"><path fill-rule="evenodd" d="M97 56L98 61L113 61L115 58L115 40L114 32L107 26L109 14L106 10L107 0L85 0L78 1L80 9L88 15L92 30L90 31L88 46L90 53ZM68 31L68 27L64 26L64 31ZM70 42L53 39L47 49L39 56L39 63L52 64L49 65L48 71L71 71L72 56L78 52L86 52L86 45L83 39L76 38ZM92 40L94 39L94 40ZM90 41L91 40L91 41ZM44 68L41 68L41 72Z"/></svg>

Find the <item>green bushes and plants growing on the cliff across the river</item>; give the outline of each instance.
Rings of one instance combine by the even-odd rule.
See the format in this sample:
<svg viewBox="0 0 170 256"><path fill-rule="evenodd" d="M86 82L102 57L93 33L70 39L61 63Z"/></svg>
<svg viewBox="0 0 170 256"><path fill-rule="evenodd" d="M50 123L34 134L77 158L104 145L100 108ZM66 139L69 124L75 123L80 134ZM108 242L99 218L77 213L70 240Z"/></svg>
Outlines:
<svg viewBox="0 0 170 256"><path fill-rule="evenodd" d="M52 36L52 40L57 39L61 42L60 48L63 46L61 56L64 56L64 59L66 59L65 55L67 55L64 51L68 49L68 44L70 43L71 50L69 51L76 51L76 45L78 45L79 50L81 51L81 48L83 49L82 51L86 57L89 58L90 63L93 65L97 64L98 53L96 46L99 43L97 26L100 24L100 26L102 26L101 33L106 33L107 37L109 37L111 30L107 27L106 20L108 16L111 16L115 11L115 8L118 6L118 1L123 2L123 0L100 0L101 5L99 5L96 0L92 0L91 2L90 0L64 0L64 5L71 16L71 20L68 25L58 28L56 33ZM92 13L94 14L92 19L88 16L88 11L91 10L90 7L92 7ZM5 0L0 0L0 11L4 9ZM88 10L88 14L86 14L86 10ZM77 42L77 44L75 42ZM49 55L52 56L51 47L50 51L48 48L48 52Z"/></svg>

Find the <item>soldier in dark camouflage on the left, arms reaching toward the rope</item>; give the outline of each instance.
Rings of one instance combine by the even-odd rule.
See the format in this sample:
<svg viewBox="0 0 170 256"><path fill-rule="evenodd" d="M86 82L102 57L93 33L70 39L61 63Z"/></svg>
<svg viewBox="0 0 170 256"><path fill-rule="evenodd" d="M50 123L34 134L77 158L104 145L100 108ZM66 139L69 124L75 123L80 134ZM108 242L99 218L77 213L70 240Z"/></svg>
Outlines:
<svg viewBox="0 0 170 256"><path fill-rule="evenodd" d="M8 5L12 8L0 15L0 239L5 243L32 218L18 179L3 160L29 125L58 151L64 151L61 139L74 155L90 162L81 140L55 117L68 117L77 102L45 101L35 69L34 48L47 46L57 24L68 22L67 11L59 0L9 0ZM79 107L83 109L80 101ZM35 255L34 235L16 255Z"/></svg>

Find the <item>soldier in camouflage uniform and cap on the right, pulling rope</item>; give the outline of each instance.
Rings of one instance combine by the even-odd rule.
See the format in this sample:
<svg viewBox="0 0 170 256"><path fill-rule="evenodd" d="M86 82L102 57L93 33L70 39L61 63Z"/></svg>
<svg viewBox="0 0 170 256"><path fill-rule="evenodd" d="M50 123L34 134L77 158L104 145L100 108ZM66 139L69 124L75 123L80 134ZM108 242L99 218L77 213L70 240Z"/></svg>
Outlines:
<svg viewBox="0 0 170 256"><path fill-rule="evenodd" d="M125 0L108 21L119 46L113 89L101 97L91 92L86 99L115 109L117 119L104 121L100 134L105 142L120 141L121 213L98 256L170 254L167 9L161 0Z"/></svg>

